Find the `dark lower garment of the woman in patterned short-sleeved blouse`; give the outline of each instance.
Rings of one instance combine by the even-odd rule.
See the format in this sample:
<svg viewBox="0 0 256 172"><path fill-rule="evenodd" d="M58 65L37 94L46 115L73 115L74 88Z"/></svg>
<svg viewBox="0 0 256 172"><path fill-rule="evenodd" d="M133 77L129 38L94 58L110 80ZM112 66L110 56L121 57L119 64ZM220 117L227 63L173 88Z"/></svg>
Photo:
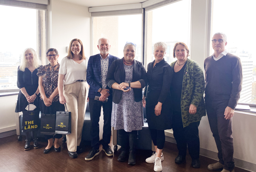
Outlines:
<svg viewBox="0 0 256 172"><path fill-rule="evenodd" d="M61 104L60 101L52 102L52 105L49 107L47 107L44 104L44 101L42 99L40 99L39 103L40 103L41 113L46 113L46 108L47 108L47 113L50 113L49 108L51 108L51 113L54 113L55 115L56 115L56 111L64 111L64 104ZM49 140L53 137L56 139L60 139L62 137L62 134L55 134L55 136L44 135L44 138L46 140Z"/></svg>

